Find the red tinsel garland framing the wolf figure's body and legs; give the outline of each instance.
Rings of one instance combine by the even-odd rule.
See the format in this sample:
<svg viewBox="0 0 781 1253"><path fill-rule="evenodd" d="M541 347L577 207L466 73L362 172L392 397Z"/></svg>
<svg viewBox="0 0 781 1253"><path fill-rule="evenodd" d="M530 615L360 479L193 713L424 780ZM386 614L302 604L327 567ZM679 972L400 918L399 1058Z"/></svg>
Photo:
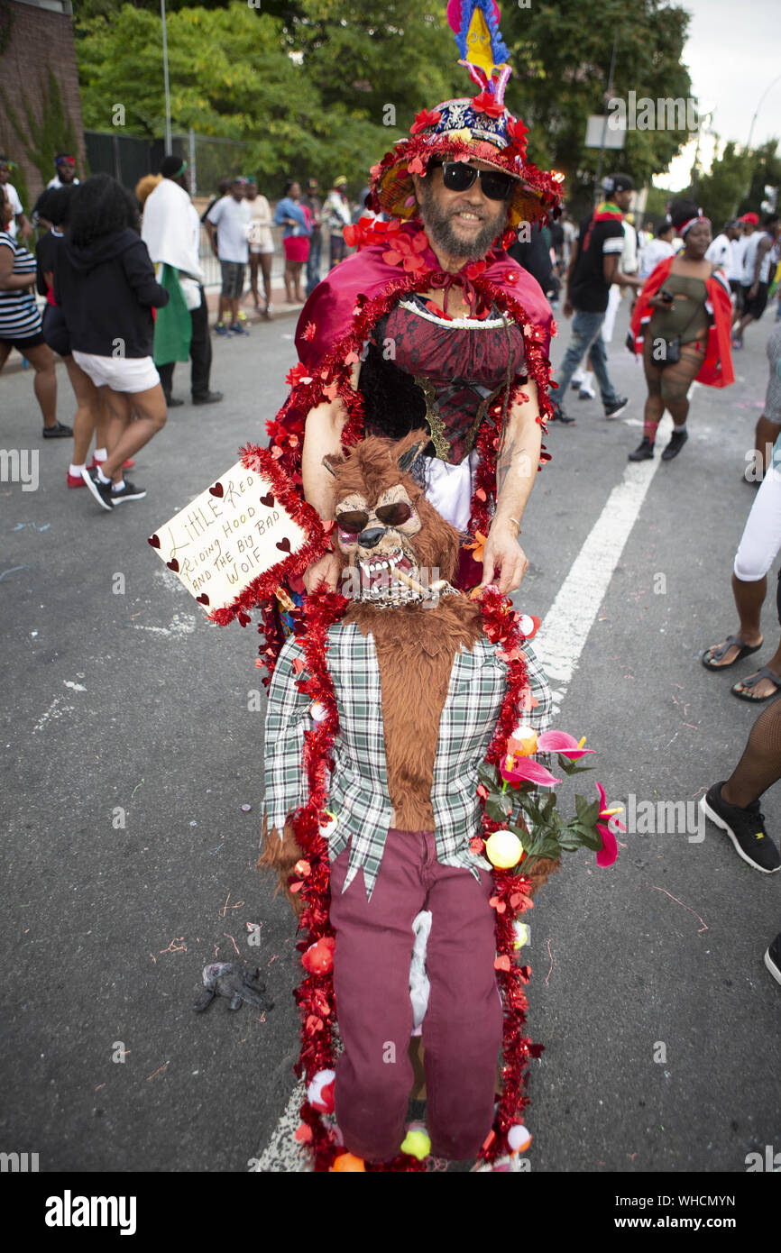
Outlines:
<svg viewBox="0 0 781 1253"><path fill-rule="evenodd" d="M308 863L301 878L300 892L305 902L300 918L297 949L305 952L311 945L333 931L328 918L330 860L327 838L321 832L328 792L328 771L332 764L332 746L338 732L338 713L333 683L327 668L327 630L342 616L349 601L338 593L317 591L308 595L302 608L302 629L298 634L305 657L305 672L298 679L300 689L321 704L325 718L305 733L303 769L307 779L307 803L293 814L296 841ZM519 614L511 603L495 589L485 589L480 601L485 633L494 644L501 647L508 665L508 690L496 722L496 730L489 746L486 759L496 763L501 758L506 741L518 720L520 698L528 687L527 668L520 652L523 637L518 628ZM499 824L483 816L485 840ZM533 1045L524 1032L527 999L523 992L529 981L529 967L514 961L513 921L532 907L530 883L513 871L494 870L494 895L496 908L496 980L504 1006L503 1027L503 1079L501 1094L494 1128L481 1150L481 1158L493 1162L506 1153L506 1133L518 1121L524 1105L524 1074L529 1056L539 1056L542 1049ZM295 1071L308 1084L320 1070L333 1069L336 1055L333 1026L336 1002L333 974L306 974L293 994L301 1014L301 1053ZM305 1100L301 1120L306 1131L303 1139L313 1154L316 1172L327 1172L340 1146L330 1126L313 1106ZM419 1172L425 1167L416 1158L400 1154L392 1163L367 1165L370 1170Z"/></svg>

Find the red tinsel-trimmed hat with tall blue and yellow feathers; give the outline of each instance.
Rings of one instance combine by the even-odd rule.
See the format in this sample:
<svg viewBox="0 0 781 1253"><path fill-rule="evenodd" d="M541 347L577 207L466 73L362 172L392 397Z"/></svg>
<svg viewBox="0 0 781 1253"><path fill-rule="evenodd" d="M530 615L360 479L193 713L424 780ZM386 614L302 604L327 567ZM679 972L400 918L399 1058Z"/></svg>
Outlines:
<svg viewBox="0 0 781 1253"><path fill-rule="evenodd" d="M511 70L499 31L499 6L495 0L450 0L448 21L461 54L459 64L469 70L479 91L416 115L409 138L372 167L376 205L395 218L411 218L416 212L412 175L425 177L431 159L480 160L515 180L509 228L558 216L564 175L539 170L527 160L528 128L504 104Z"/></svg>

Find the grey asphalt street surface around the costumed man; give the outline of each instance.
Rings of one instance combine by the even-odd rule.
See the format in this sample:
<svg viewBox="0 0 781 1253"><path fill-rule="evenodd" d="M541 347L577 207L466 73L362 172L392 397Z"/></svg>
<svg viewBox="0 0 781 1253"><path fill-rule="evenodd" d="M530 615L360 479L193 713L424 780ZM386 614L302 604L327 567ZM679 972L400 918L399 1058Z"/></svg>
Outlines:
<svg viewBox="0 0 781 1253"><path fill-rule="evenodd" d="M515 599L540 618L641 437L626 323L624 303L609 368L628 411L608 422L598 400L568 400L577 425L552 429L524 517ZM651 480L555 722L597 749L582 789L598 778L636 809L688 802L691 822L622 836L609 870L568 857L530 915L529 1030L545 1046L527 1115L535 1173L742 1173L747 1154L781 1149L781 989L762 962L781 875L751 870L713 827L702 838L693 808L757 715L730 685L778 632L768 600L766 650L723 675L700 664L737 625L730 573L756 490L741 472L770 330L770 315L748 330L733 387L696 388L691 440ZM292 332L278 318L216 341L226 400L170 412L130 475L147 497L113 514L66 490L70 442L41 440L31 371L0 378L4 447L39 452L36 490L0 484L0 1149L38 1153L41 1170L244 1172L292 1091L295 926L254 871L257 635L207 623L145 541L243 442L266 441ZM568 335L562 320L554 362ZM63 368L58 381L68 421ZM179 366L174 395L184 383ZM763 808L778 838L781 789ZM203 966L236 950L275 1007L194 1015Z"/></svg>

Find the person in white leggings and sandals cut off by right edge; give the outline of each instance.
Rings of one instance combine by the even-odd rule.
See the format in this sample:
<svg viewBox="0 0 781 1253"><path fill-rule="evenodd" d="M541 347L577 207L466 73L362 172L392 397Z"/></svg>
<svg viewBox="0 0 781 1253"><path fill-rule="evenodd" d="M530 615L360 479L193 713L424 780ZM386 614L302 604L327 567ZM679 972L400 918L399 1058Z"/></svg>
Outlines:
<svg viewBox="0 0 781 1253"><path fill-rule="evenodd" d="M763 417L781 427L781 327L773 331L767 345L770 383ZM743 530L732 573L732 594L740 616L736 635L723 644L708 648L702 664L708 670L722 670L762 647L760 614L767 594L767 573L781 550L781 435L776 439L771 465L765 471L753 507ZM781 574L781 571L780 571ZM781 621L781 583L776 601ZM736 683L732 694L741 700L768 700L781 690L781 643L766 665Z"/></svg>

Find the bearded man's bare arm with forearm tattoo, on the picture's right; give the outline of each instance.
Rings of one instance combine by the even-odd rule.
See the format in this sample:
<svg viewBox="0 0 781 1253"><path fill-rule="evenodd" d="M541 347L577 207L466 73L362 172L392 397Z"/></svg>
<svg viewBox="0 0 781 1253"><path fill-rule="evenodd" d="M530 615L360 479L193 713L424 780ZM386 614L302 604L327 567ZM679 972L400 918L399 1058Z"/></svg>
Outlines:
<svg viewBox="0 0 781 1253"><path fill-rule="evenodd" d="M534 486L539 466L543 432L539 422L537 383L524 383L527 400L518 401L508 413L506 429L496 455L496 512L489 528L483 553L483 586L499 574L499 591L508 594L520 586L529 568L518 543L520 521Z"/></svg>

